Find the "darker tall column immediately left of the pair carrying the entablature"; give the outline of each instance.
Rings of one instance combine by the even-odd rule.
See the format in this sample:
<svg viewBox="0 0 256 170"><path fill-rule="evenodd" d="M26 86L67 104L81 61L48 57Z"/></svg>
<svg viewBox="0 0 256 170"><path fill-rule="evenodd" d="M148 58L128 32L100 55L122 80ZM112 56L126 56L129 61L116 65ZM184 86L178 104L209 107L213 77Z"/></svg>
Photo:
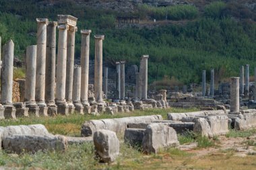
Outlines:
<svg viewBox="0 0 256 170"><path fill-rule="evenodd" d="M55 105L55 65L56 65L56 27L57 22L49 22L46 38L46 71L45 71L45 101L48 106L47 114L57 115Z"/></svg>

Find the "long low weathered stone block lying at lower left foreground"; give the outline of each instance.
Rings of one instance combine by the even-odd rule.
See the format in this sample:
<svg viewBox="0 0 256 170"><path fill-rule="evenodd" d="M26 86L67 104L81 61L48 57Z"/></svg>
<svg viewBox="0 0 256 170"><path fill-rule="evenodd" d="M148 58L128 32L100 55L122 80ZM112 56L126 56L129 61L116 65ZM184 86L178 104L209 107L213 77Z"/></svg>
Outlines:
<svg viewBox="0 0 256 170"><path fill-rule="evenodd" d="M3 149L10 153L36 153L36 151L64 151L65 136L13 135L3 138Z"/></svg>

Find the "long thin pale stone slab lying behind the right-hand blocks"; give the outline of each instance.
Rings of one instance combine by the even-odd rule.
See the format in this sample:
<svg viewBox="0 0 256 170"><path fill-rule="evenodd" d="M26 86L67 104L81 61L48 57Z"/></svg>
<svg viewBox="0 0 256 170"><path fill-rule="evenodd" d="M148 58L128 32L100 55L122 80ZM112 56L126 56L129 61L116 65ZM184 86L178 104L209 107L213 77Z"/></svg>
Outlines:
<svg viewBox="0 0 256 170"><path fill-rule="evenodd" d="M205 110L200 112L188 113L168 113L168 120L176 120L183 122L193 122L195 116L209 116L209 115L222 115L225 114L224 110Z"/></svg>

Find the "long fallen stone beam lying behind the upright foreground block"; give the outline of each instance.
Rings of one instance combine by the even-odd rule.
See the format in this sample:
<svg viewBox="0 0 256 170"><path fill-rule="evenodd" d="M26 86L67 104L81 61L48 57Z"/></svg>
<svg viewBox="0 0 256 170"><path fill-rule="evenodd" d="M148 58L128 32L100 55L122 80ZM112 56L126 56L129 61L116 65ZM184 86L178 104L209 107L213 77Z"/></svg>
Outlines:
<svg viewBox="0 0 256 170"><path fill-rule="evenodd" d="M129 123L151 123L156 120L162 120L160 115L152 116L134 116L128 118L115 118L115 119L102 119L102 120L90 120L84 122L82 125L81 135L92 136L96 130L107 129L113 130L116 133L123 134L125 128Z"/></svg>

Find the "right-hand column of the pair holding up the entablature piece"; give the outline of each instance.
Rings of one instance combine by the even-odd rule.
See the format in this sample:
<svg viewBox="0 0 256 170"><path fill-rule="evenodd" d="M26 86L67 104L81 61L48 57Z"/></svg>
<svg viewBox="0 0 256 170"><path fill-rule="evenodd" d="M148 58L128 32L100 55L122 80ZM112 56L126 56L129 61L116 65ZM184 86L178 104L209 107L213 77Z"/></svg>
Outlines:
<svg viewBox="0 0 256 170"><path fill-rule="evenodd" d="M73 113L75 107L72 103L73 71L75 60L75 32L77 27L69 26L67 30L67 70L66 70L66 92L65 99L69 105L69 113Z"/></svg>

